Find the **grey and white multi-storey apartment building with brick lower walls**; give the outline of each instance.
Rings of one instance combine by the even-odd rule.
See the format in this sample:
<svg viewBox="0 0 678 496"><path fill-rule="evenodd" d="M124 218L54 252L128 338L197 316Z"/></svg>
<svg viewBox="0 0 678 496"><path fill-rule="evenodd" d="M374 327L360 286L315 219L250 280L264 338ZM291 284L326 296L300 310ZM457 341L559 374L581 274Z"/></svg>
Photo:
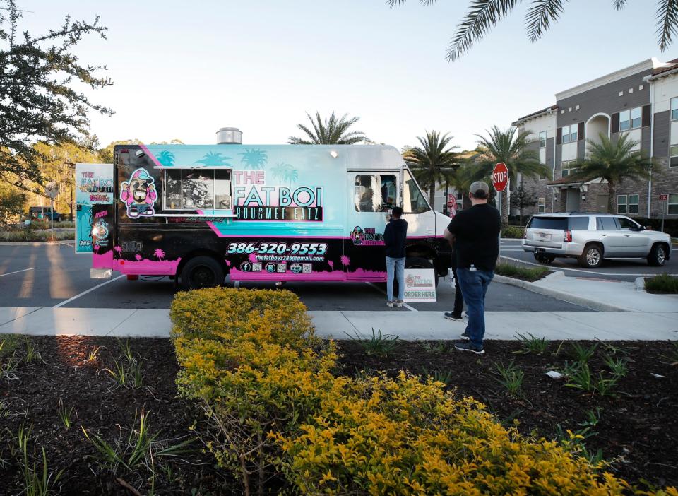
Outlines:
<svg viewBox="0 0 678 496"><path fill-rule="evenodd" d="M525 212L607 211L607 183L571 175L588 153L586 140L629 134L634 148L656 165L650 180L615 185L614 212L657 218L663 209L667 218L678 218L678 59L648 59L555 97L554 105L513 122L533 133L530 146L552 170L552 177L525 179L525 189L537 198L537 206Z"/></svg>

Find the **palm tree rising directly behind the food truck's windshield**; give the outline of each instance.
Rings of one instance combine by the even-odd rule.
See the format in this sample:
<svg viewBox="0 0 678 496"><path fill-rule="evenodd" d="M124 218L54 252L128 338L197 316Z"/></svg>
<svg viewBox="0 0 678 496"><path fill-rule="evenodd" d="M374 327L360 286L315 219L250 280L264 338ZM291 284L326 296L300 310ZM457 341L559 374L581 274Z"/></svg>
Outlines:
<svg viewBox="0 0 678 496"><path fill-rule="evenodd" d="M433 207L436 188L446 179L446 174L458 166L458 153L450 142L453 136L445 133L441 136L438 131L426 131L426 137L417 136L421 146L408 148L403 152L403 158L410 165L417 182L429 191L429 203Z"/></svg>

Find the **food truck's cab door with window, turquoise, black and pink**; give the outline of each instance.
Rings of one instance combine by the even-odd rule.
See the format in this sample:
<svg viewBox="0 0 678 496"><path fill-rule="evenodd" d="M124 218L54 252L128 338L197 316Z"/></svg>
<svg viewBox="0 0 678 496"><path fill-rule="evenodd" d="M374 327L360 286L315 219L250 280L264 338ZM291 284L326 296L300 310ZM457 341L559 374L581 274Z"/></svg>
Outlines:
<svg viewBox="0 0 678 496"><path fill-rule="evenodd" d="M386 279L383 228L398 205L398 172L350 172L347 223L350 229L343 270L347 279Z"/></svg>

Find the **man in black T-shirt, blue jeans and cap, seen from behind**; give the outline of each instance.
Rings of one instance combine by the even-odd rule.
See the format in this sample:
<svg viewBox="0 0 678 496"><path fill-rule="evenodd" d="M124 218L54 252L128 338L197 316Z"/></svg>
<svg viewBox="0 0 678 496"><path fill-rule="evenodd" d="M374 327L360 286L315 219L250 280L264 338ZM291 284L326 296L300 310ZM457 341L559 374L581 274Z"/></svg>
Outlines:
<svg viewBox="0 0 678 496"><path fill-rule="evenodd" d="M485 333L485 293L494 278L494 266L499 256L501 215L487 204L489 186L477 181L468 194L472 207L454 216L445 230L448 241L456 247L459 287L468 307L468 325L455 348L477 355L485 353L482 338Z"/></svg>

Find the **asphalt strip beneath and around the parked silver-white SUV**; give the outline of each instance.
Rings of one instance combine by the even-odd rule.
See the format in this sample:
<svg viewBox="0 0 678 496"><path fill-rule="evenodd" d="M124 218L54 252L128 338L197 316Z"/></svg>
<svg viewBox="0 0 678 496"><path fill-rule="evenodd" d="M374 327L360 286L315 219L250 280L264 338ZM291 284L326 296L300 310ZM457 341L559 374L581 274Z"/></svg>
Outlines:
<svg viewBox="0 0 678 496"><path fill-rule="evenodd" d="M528 264L547 266L560 270L566 276L616 279L620 281L635 281L637 277L661 273L678 275L678 249L672 250L672 257L662 267L650 267L644 259L605 260L598 268L581 268L576 259L555 259L552 264L537 264L530 252L525 252L521 240L501 240L501 255L507 259L523 261Z"/></svg>

